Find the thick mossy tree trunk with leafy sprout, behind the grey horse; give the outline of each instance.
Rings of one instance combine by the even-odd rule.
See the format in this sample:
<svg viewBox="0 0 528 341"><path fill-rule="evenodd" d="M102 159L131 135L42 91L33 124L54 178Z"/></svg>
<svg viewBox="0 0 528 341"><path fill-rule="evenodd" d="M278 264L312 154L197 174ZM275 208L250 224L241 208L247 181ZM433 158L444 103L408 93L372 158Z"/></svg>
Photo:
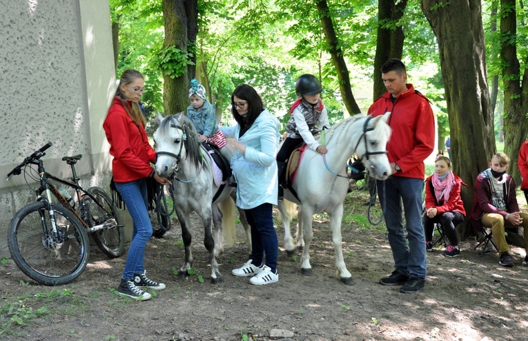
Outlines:
<svg viewBox="0 0 528 341"><path fill-rule="evenodd" d="M187 16L184 0L163 0L163 17L165 21L165 41L163 47L176 46L187 50ZM163 102L165 114L185 112L188 106L187 91L190 79L188 72L182 76L171 78L163 75Z"/></svg>

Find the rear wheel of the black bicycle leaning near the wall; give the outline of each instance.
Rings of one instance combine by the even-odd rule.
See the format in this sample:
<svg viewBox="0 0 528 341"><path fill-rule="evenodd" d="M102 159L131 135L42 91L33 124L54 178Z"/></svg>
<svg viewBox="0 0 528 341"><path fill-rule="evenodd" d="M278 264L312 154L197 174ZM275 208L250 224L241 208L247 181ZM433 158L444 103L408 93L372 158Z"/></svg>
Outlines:
<svg viewBox="0 0 528 341"><path fill-rule="evenodd" d="M112 205L112 199L99 187L90 187L86 192L99 203L97 205L90 196L83 196L87 209L86 223L89 227L101 228L92 232L95 244L110 258L121 256L125 248L124 225L117 209Z"/></svg>

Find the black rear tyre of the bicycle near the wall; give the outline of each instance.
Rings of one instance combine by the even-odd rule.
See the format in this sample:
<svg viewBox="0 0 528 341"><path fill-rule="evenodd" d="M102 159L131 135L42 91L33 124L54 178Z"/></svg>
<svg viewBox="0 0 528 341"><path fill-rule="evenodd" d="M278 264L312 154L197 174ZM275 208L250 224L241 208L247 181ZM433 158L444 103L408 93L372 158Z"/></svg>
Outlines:
<svg viewBox="0 0 528 341"><path fill-rule="evenodd" d="M124 225L121 221L121 217L119 216L119 212L117 211L117 208L112 205L112 199L110 198L110 195L104 191L104 189L101 189L100 187L90 187L86 191L92 196L100 195L104 200L106 200L106 203L108 204L108 207L110 207L112 211L112 216L115 218L115 221L117 222L117 227L115 229L112 229L117 231L117 234L113 234L113 237L117 236L117 246L116 247L110 247L107 242L105 242L106 238L104 238L104 234L108 233L108 229L101 229L99 231L92 232L92 238L99 247L101 251L103 251L106 256L110 258L117 258L123 254L123 251L125 249L125 232L124 232ZM90 198L86 196L86 198ZM95 209L100 209L97 205L95 206ZM90 207L89 211L94 209L94 207ZM90 226L91 227L91 226Z"/></svg>

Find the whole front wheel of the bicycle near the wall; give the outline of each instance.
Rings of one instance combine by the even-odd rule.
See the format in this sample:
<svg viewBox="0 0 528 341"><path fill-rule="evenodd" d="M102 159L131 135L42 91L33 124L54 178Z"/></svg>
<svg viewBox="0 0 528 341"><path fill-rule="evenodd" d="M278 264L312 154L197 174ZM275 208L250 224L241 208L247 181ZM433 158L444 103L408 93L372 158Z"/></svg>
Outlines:
<svg viewBox="0 0 528 341"><path fill-rule="evenodd" d="M50 212L39 201L22 207L11 220L8 247L17 266L43 285L63 285L86 268L90 240L81 222L61 205L53 205L57 238Z"/></svg>

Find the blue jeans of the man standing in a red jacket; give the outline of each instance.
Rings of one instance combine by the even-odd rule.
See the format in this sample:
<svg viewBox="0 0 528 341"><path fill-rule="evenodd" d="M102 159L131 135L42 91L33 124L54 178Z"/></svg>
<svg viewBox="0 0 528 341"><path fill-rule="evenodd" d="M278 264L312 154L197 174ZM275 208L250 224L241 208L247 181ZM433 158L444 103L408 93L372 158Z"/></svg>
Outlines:
<svg viewBox="0 0 528 341"><path fill-rule="evenodd" d="M396 271L404 276L425 279L427 258L422 225L424 180L390 176L387 180L378 180L377 185ZM409 242L402 225L402 203Z"/></svg>

